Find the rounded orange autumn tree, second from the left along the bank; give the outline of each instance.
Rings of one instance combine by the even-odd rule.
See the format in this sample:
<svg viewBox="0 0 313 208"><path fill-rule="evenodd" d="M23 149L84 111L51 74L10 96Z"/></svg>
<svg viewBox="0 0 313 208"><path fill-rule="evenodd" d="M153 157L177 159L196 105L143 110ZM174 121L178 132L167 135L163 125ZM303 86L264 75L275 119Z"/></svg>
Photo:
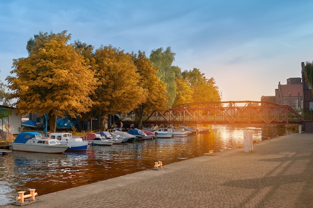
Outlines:
<svg viewBox="0 0 313 208"><path fill-rule="evenodd" d="M92 109L101 115L101 129L106 115L127 113L144 102L147 92L140 84L140 74L129 53L112 46L101 46L95 51L96 77L99 86L91 96Z"/></svg>

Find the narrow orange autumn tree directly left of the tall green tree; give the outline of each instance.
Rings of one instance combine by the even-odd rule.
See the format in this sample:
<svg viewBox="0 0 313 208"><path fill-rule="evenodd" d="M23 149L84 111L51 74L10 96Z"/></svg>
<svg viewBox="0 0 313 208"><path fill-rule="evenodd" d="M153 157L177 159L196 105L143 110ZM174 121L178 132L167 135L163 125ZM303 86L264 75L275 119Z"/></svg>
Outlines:
<svg viewBox="0 0 313 208"><path fill-rule="evenodd" d="M165 83L157 76L158 68L154 67L144 52L132 53L132 60L140 74L138 84L147 92L146 100L135 109L138 115L138 128L141 128L144 113L151 113L154 110L165 110L167 103L167 91Z"/></svg>

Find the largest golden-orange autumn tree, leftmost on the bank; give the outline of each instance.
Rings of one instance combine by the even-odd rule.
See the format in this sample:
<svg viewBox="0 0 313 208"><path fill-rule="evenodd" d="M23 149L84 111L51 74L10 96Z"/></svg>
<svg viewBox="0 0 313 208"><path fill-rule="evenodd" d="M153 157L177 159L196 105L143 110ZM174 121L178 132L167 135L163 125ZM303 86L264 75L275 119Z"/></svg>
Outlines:
<svg viewBox="0 0 313 208"><path fill-rule="evenodd" d="M16 76L6 77L18 113L47 113L51 131L58 116L90 109L97 84L84 57L67 43L70 37L67 31L34 35L27 42L28 57L13 59L10 73Z"/></svg>

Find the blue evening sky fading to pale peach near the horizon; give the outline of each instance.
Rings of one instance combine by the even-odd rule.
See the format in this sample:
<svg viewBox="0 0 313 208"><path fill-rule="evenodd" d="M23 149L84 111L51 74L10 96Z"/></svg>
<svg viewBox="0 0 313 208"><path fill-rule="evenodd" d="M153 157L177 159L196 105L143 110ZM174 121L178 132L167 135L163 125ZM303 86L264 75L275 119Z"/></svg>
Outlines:
<svg viewBox="0 0 313 208"><path fill-rule="evenodd" d="M172 65L213 77L222 101L259 101L313 60L311 0L1 0L0 79L27 40L67 30L71 42L125 52L171 47ZM69 43L71 43L69 42Z"/></svg>

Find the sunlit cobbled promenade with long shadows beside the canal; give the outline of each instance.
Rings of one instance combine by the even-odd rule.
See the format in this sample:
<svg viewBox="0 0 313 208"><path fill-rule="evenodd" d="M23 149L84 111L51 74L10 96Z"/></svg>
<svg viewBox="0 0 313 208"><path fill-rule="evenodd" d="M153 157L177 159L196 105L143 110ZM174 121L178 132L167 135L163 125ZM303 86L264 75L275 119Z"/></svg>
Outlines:
<svg viewBox="0 0 313 208"><path fill-rule="evenodd" d="M25 207L313 207L313 134L280 136L255 143L252 152L214 152L36 199Z"/></svg>

